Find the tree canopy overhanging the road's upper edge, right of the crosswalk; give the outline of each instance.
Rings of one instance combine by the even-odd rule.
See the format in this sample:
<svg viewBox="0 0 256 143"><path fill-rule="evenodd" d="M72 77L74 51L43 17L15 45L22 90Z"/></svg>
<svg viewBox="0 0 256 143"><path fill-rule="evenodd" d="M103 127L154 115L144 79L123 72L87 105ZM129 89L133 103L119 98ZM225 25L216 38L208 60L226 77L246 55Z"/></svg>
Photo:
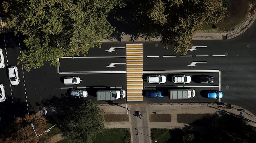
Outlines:
<svg viewBox="0 0 256 143"><path fill-rule="evenodd" d="M173 44L175 52L186 54L196 30L205 23L221 22L227 15L228 0L136 0L141 33Z"/></svg>

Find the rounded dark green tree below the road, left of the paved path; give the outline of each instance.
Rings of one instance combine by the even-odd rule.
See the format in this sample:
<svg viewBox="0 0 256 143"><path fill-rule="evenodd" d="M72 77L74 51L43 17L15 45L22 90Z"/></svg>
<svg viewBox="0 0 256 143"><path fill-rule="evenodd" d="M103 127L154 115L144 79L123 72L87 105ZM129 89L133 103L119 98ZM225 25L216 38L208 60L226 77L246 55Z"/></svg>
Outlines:
<svg viewBox="0 0 256 143"><path fill-rule="evenodd" d="M70 113L64 120L63 132L70 143L90 143L104 128L104 113L90 100L72 108Z"/></svg>

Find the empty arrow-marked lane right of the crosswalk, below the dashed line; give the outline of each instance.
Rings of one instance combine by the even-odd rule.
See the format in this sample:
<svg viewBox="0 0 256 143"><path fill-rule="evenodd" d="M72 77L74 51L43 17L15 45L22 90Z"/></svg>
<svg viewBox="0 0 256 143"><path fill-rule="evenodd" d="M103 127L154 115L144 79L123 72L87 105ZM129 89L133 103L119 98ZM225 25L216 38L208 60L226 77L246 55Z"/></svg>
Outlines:
<svg viewBox="0 0 256 143"><path fill-rule="evenodd" d="M213 70L219 69L222 64L228 64L226 56L218 57L144 57L143 70ZM227 69L227 68L225 68Z"/></svg>

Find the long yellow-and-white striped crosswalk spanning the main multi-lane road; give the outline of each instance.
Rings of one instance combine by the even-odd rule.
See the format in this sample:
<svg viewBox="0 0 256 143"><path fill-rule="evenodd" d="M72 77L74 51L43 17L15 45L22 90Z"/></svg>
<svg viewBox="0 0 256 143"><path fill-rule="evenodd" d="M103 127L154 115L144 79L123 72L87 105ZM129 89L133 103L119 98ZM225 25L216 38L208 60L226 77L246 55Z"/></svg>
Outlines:
<svg viewBox="0 0 256 143"><path fill-rule="evenodd" d="M143 101L143 44L126 44L127 101Z"/></svg>

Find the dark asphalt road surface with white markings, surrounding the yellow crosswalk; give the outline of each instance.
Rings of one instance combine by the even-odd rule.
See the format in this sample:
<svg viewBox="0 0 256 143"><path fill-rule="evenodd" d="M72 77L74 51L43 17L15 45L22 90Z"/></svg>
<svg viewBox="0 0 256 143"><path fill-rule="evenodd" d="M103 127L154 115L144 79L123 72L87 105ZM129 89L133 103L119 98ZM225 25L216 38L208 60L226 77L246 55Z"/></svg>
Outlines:
<svg viewBox="0 0 256 143"><path fill-rule="evenodd" d="M160 85L148 84L144 81L144 90L157 89L164 91L166 95L168 88L178 86L196 91L196 97L189 100L144 97L144 102L217 102L218 100L202 97L201 91L220 90L224 93L221 102L241 106L256 115L255 28L254 23L245 33L230 40L193 41L193 46L196 48L189 51L186 56L173 52L171 46L168 49L163 48L159 41L135 42L143 43L144 77L161 74L166 75L168 79L165 84ZM80 55L75 58L60 59L59 68L46 63L44 67L26 72L21 65L17 65L20 48L25 47L22 44L22 37L5 33L0 36L0 41L4 56L7 56L5 59L7 67L16 65L20 69L20 84L17 86L10 85L7 68L0 69L0 82L4 84L7 94L7 101L0 103L1 116L13 117L19 113L34 111L41 106L61 103L58 101L62 99L73 101L65 97L70 94L71 88L87 90L89 96L86 99L93 101L96 101L96 91L99 89L126 89L126 42L105 42L102 48L90 49L86 57ZM116 47L115 51L106 51L111 47ZM115 63L115 67L107 67L111 63ZM174 84L171 82L171 76L176 74L190 75L193 81L189 84ZM195 76L202 74L214 76L215 83L211 85L195 83ZM79 76L83 81L79 85L64 85L65 76ZM124 103L125 100L113 102ZM106 101L98 103L106 103Z"/></svg>

